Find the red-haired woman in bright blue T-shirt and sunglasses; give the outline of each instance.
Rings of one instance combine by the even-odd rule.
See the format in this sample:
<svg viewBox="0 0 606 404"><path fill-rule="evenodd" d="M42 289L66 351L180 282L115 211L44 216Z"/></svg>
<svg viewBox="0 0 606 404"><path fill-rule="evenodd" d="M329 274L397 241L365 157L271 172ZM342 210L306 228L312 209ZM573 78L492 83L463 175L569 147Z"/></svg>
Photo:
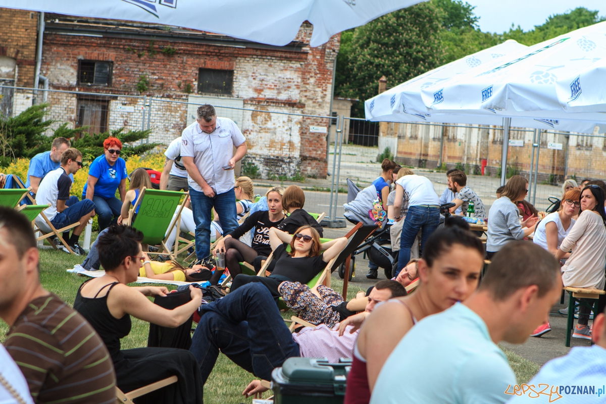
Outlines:
<svg viewBox="0 0 606 404"><path fill-rule="evenodd" d="M126 163L120 152L122 142L117 137L108 137L103 142L105 153L97 157L88 168L88 181L82 190L82 199L95 202L99 215L99 231L104 230L120 216L122 201L126 195ZM116 198L120 191L120 199Z"/></svg>

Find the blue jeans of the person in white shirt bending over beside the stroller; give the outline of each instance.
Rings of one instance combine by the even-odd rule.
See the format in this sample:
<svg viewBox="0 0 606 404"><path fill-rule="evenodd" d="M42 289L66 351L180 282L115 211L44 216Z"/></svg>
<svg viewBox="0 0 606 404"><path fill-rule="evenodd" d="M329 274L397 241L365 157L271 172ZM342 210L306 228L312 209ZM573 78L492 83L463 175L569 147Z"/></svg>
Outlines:
<svg viewBox="0 0 606 404"><path fill-rule="evenodd" d="M410 261L410 248L413 247L419 230L421 230L421 246L419 246L419 250L422 251L425 248L427 239L438 228L439 224L439 208L421 206L411 206L408 208L406 219L404 219L404 226L402 227L402 236L400 236L400 256L398 258L396 276Z"/></svg>

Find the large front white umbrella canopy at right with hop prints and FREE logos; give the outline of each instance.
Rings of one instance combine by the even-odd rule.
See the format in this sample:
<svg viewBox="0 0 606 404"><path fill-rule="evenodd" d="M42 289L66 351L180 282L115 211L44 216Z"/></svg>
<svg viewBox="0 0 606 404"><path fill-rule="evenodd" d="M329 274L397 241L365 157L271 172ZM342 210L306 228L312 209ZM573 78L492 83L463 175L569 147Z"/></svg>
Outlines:
<svg viewBox="0 0 606 404"><path fill-rule="evenodd" d="M605 122L606 114L565 112L556 93L558 78L606 57L605 34L602 22L541 42L424 88L423 101L429 110L442 113L484 110L503 116Z"/></svg>

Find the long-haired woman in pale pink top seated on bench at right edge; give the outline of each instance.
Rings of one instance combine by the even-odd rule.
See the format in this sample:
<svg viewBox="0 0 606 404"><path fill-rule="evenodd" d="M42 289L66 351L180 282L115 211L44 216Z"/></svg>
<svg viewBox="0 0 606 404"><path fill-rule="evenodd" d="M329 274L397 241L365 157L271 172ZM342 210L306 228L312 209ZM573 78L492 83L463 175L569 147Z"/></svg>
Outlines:
<svg viewBox="0 0 606 404"><path fill-rule="evenodd" d="M604 290L606 279L606 213L604 213L604 192L598 185L587 185L581 192L581 214L568 236L556 251L556 259L562 259L572 250L562 267L564 286L596 288ZM565 205L565 204L564 204ZM584 299L581 299L584 300ZM586 302L593 305L593 299ZM599 295L598 313L604 311L606 295ZM573 338L591 339L587 326L589 309L581 305L579 322L574 328Z"/></svg>

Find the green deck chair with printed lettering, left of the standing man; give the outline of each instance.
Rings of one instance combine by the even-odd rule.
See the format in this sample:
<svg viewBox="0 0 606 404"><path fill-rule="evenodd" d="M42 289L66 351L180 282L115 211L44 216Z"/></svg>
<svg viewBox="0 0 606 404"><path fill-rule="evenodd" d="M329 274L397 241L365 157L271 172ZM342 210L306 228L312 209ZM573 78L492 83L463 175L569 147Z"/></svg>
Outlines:
<svg viewBox="0 0 606 404"><path fill-rule="evenodd" d="M162 247L158 248L157 252L148 254L168 254L170 259L175 259L173 253L166 247L166 241L175 224L181 220L181 211L184 204L181 204L181 209L179 209L174 221L173 215L177 210L181 197L184 195L187 197L187 193L181 191L150 190L145 187L139 192L135 205L128 211L127 224L132 225L133 228L143 233L141 244L159 245ZM140 206L139 213L133 222L132 217L138 206ZM162 251L163 249L164 251Z"/></svg>

